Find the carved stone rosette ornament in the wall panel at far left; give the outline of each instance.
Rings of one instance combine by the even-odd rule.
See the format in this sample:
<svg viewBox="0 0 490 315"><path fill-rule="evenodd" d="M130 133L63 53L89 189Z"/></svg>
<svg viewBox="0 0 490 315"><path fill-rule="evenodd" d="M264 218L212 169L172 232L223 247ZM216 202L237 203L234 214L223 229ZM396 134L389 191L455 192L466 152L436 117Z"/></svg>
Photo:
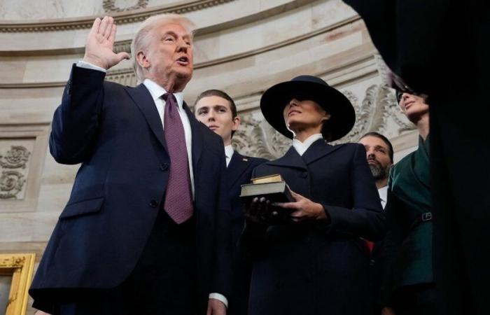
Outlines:
<svg viewBox="0 0 490 315"><path fill-rule="evenodd" d="M25 187L27 162L31 153L24 146L10 146L5 155L0 154L0 200L18 199Z"/></svg>

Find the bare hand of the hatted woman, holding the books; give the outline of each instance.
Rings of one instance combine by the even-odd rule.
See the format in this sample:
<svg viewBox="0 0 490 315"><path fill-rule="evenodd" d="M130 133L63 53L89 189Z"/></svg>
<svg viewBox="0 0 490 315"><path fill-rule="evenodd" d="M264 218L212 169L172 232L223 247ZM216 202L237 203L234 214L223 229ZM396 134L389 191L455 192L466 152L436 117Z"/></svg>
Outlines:
<svg viewBox="0 0 490 315"><path fill-rule="evenodd" d="M277 202L274 205L284 208L293 209L294 212L290 215L291 220L300 222L305 220L328 220L327 213L321 204L312 202L307 197L303 197L291 190L291 195L295 202Z"/></svg>

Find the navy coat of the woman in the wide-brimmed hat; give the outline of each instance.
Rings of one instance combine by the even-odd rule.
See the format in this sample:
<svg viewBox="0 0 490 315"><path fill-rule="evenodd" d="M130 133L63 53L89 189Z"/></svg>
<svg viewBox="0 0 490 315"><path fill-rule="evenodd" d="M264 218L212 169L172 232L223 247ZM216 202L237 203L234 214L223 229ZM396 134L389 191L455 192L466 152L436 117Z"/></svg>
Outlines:
<svg viewBox="0 0 490 315"><path fill-rule="evenodd" d="M291 190L323 204L331 223L244 231L241 244L254 260L250 314L367 314L370 254L360 237L377 241L385 227L363 146L320 139L302 156L291 147L253 176L268 174L281 174Z"/></svg>

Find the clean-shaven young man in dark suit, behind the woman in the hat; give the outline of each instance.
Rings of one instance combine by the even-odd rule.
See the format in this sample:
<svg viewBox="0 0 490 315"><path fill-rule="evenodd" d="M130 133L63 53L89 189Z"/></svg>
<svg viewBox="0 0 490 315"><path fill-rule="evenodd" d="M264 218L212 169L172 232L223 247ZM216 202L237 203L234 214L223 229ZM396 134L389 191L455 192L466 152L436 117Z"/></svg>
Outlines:
<svg viewBox="0 0 490 315"><path fill-rule="evenodd" d="M232 137L239 128L240 118L237 116L237 106L230 95L221 90L204 91L196 99L194 113L197 120L219 134L225 144L227 165L225 176L230 189L228 197L232 206L232 245L236 246L245 221L239 197L241 185L250 183L253 169L266 160L244 156L233 150ZM250 276L250 262L246 262L235 247L233 251L234 281L229 314L248 314Z"/></svg>

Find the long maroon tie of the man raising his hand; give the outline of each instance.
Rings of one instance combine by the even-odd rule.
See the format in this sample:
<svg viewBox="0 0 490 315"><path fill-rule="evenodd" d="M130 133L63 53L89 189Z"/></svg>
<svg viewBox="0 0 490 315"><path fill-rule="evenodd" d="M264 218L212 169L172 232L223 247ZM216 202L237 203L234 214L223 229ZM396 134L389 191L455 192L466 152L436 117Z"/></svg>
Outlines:
<svg viewBox="0 0 490 315"><path fill-rule="evenodd" d="M186 134L174 94L165 93L162 99L165 100L165 143L170 156L170 174L163 207L170 218L180 224L193 216L194 211L190 190Z"/></svg>

